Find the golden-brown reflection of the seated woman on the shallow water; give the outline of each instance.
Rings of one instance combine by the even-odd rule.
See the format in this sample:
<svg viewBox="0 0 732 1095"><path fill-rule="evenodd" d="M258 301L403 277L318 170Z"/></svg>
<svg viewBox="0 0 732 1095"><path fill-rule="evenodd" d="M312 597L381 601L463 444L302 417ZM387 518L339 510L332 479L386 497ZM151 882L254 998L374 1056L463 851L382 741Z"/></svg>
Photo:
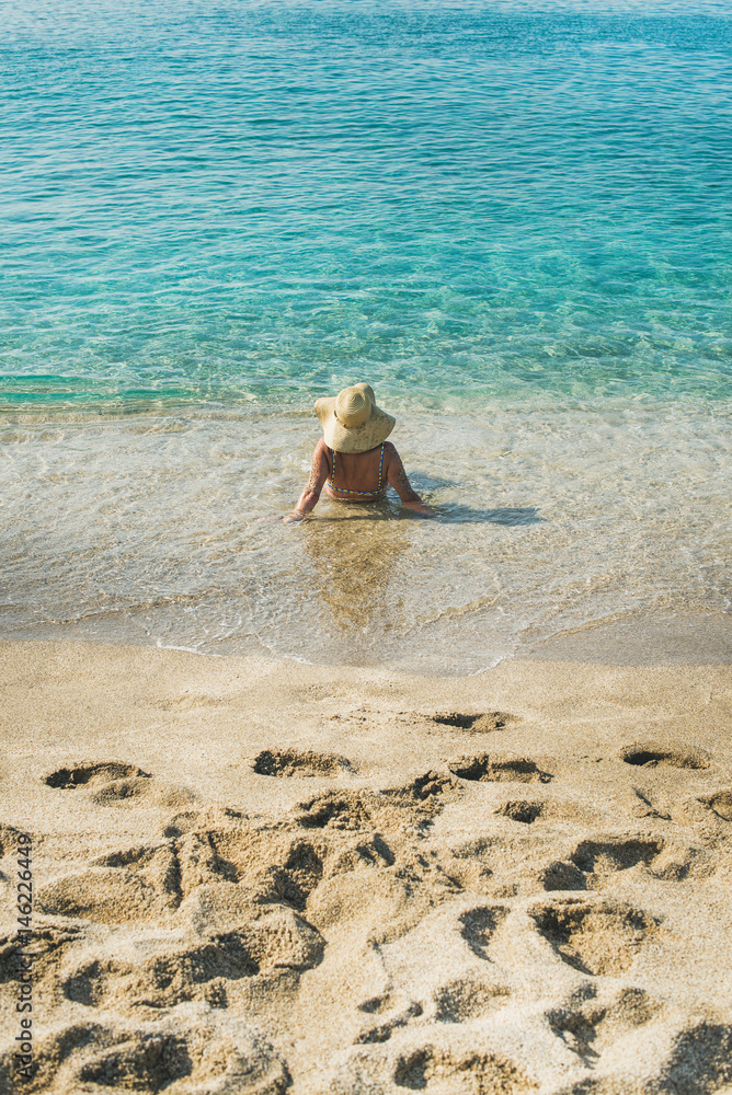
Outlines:
<svg viewBox="0 0 732 1095"><path fill-rule="evenodd" d="M404 522L389 520L386 509L348 507L338 517L309 521L302 529L305 551L314 564L317 593L343 633L378 635L389 631L403 612L401 601L389 597L389 585L409 538Z"/></svg>

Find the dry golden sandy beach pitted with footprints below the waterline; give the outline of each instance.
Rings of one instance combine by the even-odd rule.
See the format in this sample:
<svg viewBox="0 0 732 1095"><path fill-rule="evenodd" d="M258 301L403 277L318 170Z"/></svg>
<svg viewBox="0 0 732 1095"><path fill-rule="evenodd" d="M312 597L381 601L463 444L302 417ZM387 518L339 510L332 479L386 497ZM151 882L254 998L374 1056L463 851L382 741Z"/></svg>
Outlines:
<svg viewBox="0 0 732 1095"><path fill-rule="evenodd" d="M732 675L0 645L0 1091L732 1091Z"/></svg>

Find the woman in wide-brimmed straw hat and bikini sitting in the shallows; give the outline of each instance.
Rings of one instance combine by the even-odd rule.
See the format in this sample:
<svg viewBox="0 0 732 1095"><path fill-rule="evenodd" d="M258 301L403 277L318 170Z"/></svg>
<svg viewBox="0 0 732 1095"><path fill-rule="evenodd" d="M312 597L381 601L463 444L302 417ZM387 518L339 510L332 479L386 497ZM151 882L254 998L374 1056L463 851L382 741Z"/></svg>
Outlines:
<svg viewBox="0 0 732 1095"><path fill-rule="evenodd" d="M376 405L368 384L344 388L333 399L318 400L316 414L323 437L316 445L308 485L285 521L301 521L318 504L325 488L335 502L378 502L392 486L402 506L434 515L407 479L401 457L387 437L396 419Z"/></svg>

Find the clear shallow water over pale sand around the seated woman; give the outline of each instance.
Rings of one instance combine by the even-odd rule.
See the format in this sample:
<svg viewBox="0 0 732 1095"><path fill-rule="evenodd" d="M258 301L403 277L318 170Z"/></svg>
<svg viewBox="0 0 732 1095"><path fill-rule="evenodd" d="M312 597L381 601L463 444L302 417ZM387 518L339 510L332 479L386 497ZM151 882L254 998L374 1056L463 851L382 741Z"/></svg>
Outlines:
<svg viewBox="0 0 732 1095"><path fill-rule="evenodd" d="M403 417L393 436L436 520L323 499L304 525L260 523L307 479L314 415L9 428L0 634L459 675L592 622L693 618L689 661L704 621L719 631L729 415ZM729 657L729 637L701 660Z"/></svg>

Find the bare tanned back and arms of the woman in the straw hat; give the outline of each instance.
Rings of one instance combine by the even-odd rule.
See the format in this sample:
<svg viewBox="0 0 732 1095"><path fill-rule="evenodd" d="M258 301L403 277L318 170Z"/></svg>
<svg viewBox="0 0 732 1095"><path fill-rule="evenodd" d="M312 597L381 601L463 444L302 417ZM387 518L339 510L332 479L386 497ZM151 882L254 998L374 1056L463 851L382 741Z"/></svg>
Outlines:
<svg viewBox="0 0 732 1095"><path fill-rule="evenodd" d="M335 479L339 486L348 487L351 491L373 491L379 481L379 460L381 457L381 446L369 449L367 452L338 452L335 456ZM387 493L387 486L392 486L399 499L407 509L412 509L415 514L425 517L434 517L435 511L432 506L420 498L412 488L407 477L401 457L394 449L391 441L384 446L382 465L382 488L378 495L371 496L368 502L378 502ZM312 453L312 464L310 466L310 479L300 495L297 506L290 510L283 520L287 523L301 521L318 505L323 488L329 498L335 502L364 503L363 498L354 498L348 494L343 494L338 489L333 491L328 486L327 480L331 479L331 450L321 439L316 445Z"/></svg>

